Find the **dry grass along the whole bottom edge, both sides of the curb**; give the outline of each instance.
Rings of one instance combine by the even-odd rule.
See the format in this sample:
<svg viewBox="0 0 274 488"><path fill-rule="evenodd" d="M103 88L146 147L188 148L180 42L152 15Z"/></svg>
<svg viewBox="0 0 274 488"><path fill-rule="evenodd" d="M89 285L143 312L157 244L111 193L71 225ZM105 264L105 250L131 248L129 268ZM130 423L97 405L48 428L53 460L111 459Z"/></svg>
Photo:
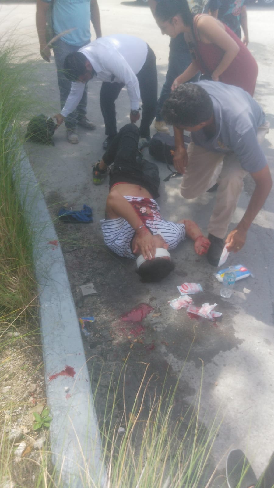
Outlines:
<svg viewBox="0 0 274 488"><path fill-rule="evenodd" d="M126 367L126 366L125 366ZM201 388L196 401L177 418L174 414L178 382L172 389L163 386L159 397L151 398L150 408L144 414L148 389L154 377L147 377L146 366L138 386L134 405L128 411L124 371L120 372L117 386L113 389L110 374L106 394L105 411L99 419L102 438L100 461L106 467L101 478L96 481L89 471L86 460L79 462L78 479L85 488L210 488L215 476L211 450L218 433L217 418L209 428L199 421ZM99 395L100 382L104 380L103 368L99 376L98 390L94 393L95 404ZM123 411L117 411L117 403L123 398ZM101 400L101 399L98 399ZM101 403L101 401L99 402ZM39 460L28 457L21 459L13 473L8 471L13 459L12 446L6 435L0 439L0 480L13 479L21 488L75 488L76 480L63 484L62 473L57 472L51 463L51 451L45 446L39 452ZM30 443L32 432L25 436ZM2 452L1 452L2 449ZM4 454L4 455L3 455ZM8 460L6 463L4 460ZM80 467L81 464L81 467ZM83 466L85 468L83 468ZM34 473L35 478L21 482L21 473ZM222 478L222 481L224 479ZM77 485L79 486L79 485ZM225 485L222 485L225 486Z"/></svg>

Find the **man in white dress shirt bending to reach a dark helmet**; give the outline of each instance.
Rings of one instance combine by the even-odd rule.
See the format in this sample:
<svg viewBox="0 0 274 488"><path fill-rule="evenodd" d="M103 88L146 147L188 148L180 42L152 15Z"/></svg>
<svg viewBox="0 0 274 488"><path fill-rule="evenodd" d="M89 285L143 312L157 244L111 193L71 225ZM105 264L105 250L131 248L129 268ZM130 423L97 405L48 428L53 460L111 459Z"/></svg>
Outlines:
<svg viewBox="0 0 274 488"><path fill-rule="evenodd" d="M132 123L140 118L139 100L142 100L141 144L144 146L149 141L157 106L157 68L155 54L145 41L124 34L101 37L77 53L69 54L64 72L72 86L65 106L55 116L58 125L77 106L86 81L96 77L103 81L100 107L107 136L103 148L106 149L117 134L115 101L124 86L130 99Z"/></svg>

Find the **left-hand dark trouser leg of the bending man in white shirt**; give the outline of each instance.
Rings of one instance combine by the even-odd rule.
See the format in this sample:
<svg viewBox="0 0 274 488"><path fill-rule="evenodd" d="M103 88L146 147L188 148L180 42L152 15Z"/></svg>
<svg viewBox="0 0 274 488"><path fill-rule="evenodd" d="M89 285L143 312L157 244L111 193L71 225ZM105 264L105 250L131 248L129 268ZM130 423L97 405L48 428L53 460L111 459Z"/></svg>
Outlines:
<svg viewBox="0 0 274 488"><path fill-rule="evenodd" d="M105 122L105 134L114 138L117 134L115 101L123 88L123 83L108 83L103 81L100 91L100 107Z"/></svg>

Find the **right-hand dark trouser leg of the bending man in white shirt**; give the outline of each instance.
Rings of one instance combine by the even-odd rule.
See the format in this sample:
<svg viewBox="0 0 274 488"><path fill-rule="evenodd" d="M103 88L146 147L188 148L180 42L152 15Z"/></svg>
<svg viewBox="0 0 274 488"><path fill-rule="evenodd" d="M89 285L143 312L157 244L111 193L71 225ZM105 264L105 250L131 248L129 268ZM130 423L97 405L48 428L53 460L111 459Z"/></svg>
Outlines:
<svg viewBox="0 0 274 488"><path fill-rule="evenodd" d="M156 56L148 46L148 54L142 69L137 74L142 100L142 118L140 137L150 137L150 125L156 114L157 107L157 67Z"/></svg>

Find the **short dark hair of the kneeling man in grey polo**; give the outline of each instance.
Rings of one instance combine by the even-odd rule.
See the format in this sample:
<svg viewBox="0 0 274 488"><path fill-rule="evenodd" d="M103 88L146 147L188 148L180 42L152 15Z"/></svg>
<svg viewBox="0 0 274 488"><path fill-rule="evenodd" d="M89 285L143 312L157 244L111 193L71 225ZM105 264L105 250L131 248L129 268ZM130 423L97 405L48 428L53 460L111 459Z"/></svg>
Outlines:
<svg viewBox="0 0 274 488"><path fill-rule="evenodd" d="M168 124L194 127L213 114L212 100L198 83L179 85L164 102L162 117Z"/></svg>

